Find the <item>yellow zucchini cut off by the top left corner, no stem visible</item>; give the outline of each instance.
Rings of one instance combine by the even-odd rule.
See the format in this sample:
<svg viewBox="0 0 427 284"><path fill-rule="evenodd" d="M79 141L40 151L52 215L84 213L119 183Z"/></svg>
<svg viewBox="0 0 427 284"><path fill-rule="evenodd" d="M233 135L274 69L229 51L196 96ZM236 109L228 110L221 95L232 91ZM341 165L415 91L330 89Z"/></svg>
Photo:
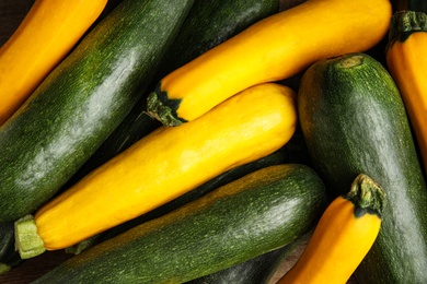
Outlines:
<svg viewBox="0 0 427 284"><path fill-rule="evenodd" d="M36 0L0 48L0 126L99 17L107 0Z"/></svg>

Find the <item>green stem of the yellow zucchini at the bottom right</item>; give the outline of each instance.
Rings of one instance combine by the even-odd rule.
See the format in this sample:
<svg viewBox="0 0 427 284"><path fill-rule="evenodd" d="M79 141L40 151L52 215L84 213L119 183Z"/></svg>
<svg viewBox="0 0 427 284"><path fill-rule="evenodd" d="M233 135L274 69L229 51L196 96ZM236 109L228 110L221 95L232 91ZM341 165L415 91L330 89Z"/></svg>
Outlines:
<svg viewBox="0 0 427 284"><path fill-rule="evenodd" d="M372 178L360 174L351 184L351 189L343 196L355 204L355 216L376 214L380 218L385 206L385 191Z"/></svg>

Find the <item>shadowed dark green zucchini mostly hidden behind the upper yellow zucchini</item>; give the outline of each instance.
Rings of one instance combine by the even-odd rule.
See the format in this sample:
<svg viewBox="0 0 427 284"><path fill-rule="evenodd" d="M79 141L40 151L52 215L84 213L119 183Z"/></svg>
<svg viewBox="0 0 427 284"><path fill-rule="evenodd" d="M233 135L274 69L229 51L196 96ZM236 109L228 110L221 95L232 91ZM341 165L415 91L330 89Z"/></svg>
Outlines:
<svg viewBox="0 0 427 284"><path fill-rule="evenodd" d="M153 82L251 24L278 12L279 2L279 0L195 1L176 39L160 63ZM147 114L148 93L141 96L130 114L102 143L70 182L79 180L161 126L160 121Z"/></svg>

